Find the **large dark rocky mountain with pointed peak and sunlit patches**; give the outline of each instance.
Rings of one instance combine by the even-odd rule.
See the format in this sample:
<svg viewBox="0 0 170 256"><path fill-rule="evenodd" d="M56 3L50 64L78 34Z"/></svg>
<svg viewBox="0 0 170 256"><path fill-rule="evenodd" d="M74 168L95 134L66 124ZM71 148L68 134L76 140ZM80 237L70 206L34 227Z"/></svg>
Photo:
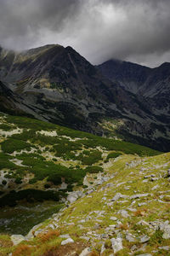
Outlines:
<svg viewBox="0 0 170 256"><path fill-rule="evenodd" d="M135 68L140 88L150 69ZM132 71L127 77L133 77ZM24 52L1 48L0 80L18 102L12 108L15 113L22 110L100 136L169 148L169 117L162 119L162 113L153 111L153 101L136 90L124 90L120 81L106 78L70 46L52 44Z"/></svg>

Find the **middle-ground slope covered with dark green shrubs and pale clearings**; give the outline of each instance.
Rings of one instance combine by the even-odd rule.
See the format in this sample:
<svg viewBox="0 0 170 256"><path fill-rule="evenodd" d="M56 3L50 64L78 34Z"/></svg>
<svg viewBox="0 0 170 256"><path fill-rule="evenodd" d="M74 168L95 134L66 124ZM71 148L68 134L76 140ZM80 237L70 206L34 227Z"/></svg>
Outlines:
<svg viewBox="0 0 170 256"><path fill-rule="evenodd" d="M150 148L96 137L36 119L2 114L0 122L3 191L20 187L55 188L62 183L61 177L71 190L72 183L82 185L87 172L102 171L104 162L117 154L160 154Z"/></svg>

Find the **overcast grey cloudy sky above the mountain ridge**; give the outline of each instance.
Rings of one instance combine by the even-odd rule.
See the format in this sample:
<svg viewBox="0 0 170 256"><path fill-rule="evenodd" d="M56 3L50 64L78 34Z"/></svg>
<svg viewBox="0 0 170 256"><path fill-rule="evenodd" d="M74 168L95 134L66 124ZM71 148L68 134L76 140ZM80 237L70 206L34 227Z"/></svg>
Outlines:
<svg viewBox="0 0 170 256"><path fill-rule="evenodd" d="M170 61L170 0L0 0L0 44L71 45L93 64Z"/></svg>

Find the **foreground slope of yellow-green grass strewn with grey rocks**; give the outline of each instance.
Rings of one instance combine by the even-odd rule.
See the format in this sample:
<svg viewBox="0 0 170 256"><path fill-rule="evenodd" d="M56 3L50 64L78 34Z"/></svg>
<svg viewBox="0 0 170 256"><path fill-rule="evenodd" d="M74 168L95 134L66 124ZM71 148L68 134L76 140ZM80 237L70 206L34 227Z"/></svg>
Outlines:
<svg viewBox="0 0 170 256"><path fill-rule="evenodd" d="M0 236L2 255L169 255L170 154L122 154L104 168L27 236Z"/></svg>

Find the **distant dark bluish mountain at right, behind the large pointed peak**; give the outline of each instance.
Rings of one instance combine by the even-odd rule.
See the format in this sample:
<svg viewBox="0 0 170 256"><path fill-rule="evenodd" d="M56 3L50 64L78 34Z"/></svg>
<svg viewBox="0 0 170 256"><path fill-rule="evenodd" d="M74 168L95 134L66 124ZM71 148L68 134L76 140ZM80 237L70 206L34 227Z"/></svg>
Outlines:
<svg viewBox="0 0 170 256"><path fill-rule="evenodd" d="M143 96L158 110L169 115L170 63L150 68L127 61L106 61L98 66L106 78L125 90ZM155 103L155 104L154 104Z"/></svg>

